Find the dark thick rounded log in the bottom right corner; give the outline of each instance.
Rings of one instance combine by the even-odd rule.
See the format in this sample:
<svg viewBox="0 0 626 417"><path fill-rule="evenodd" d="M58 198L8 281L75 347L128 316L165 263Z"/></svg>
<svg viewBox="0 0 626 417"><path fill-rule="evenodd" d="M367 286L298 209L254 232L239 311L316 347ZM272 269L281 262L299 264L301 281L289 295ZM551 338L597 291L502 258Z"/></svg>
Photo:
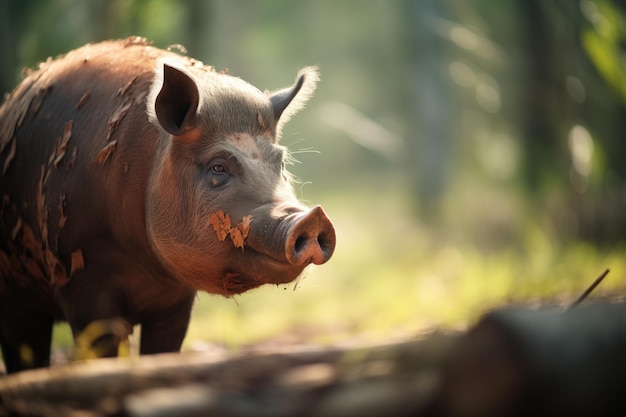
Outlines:
<svg viewBox="0 0 626 417"><path fill-rule="evenodd" d="M626 415L626 303L486 315L444 367L438 415Z"/></svg>

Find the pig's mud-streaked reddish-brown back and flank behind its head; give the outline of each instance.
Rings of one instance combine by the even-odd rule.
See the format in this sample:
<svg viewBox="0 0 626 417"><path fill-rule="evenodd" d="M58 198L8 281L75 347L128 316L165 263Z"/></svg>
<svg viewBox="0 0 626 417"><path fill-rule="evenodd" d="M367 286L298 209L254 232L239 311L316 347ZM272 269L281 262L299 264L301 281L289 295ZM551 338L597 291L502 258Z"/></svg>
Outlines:
<svg viewBox="0 0 626 417"><path fill-rule="evenodd" d="M7 279L63 285L85 245L115 240L115 228L136 237L129 247L145 243L143 197L158 146L145 99L156 61L169 55L177 57L141 38L87 45L41 64L7 98L0 290Z"/></svg>

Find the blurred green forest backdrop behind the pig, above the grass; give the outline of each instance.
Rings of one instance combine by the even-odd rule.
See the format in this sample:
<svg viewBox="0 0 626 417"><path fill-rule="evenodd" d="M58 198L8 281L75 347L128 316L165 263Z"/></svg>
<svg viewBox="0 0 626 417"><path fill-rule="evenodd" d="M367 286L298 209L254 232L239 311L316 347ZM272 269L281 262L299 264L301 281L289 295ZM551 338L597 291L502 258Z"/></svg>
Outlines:
<svg viewBox="0 0 626 417"><path fill-rule="evenodd" d="M23 66L129 35L181 43L261 88L319 65L312 109L284 143L324 157L299 154L296 174L337 187L338 177L401 174L431 221L462 202L448 194L467 184L523 191L564 237L614 242L626 237L625 4L6 0L0 88L10 91ZM289 136L299 129L315 142Z"/></svg>

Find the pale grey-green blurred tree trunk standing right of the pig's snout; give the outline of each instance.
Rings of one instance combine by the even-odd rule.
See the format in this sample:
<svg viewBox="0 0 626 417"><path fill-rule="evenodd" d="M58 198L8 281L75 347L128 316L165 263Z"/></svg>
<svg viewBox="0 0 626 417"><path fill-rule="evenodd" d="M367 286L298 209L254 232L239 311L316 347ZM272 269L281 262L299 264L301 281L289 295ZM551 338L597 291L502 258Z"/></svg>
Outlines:
<svg viewBox="0 0 626 417"><path fill-rule="evenodd" d="M457 118L447 75L447 45L437 31L446 7L438 0L406 0L402 7L410 74L405 110L410 151L405 163L420 214L435 220L452 169L450 124Z"/></svg>

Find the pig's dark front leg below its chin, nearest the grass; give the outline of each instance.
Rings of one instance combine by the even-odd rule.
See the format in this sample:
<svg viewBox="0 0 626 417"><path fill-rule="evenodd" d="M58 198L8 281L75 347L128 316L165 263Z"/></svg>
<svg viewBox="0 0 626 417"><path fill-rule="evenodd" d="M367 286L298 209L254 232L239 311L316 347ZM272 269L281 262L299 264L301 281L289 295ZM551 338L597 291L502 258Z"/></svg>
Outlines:
<svg viewBox="0 0 626 417"><path fill-rule="evenodd" d="M195 293L141 323L142 355L179 352L187 333Z"/></svg>

